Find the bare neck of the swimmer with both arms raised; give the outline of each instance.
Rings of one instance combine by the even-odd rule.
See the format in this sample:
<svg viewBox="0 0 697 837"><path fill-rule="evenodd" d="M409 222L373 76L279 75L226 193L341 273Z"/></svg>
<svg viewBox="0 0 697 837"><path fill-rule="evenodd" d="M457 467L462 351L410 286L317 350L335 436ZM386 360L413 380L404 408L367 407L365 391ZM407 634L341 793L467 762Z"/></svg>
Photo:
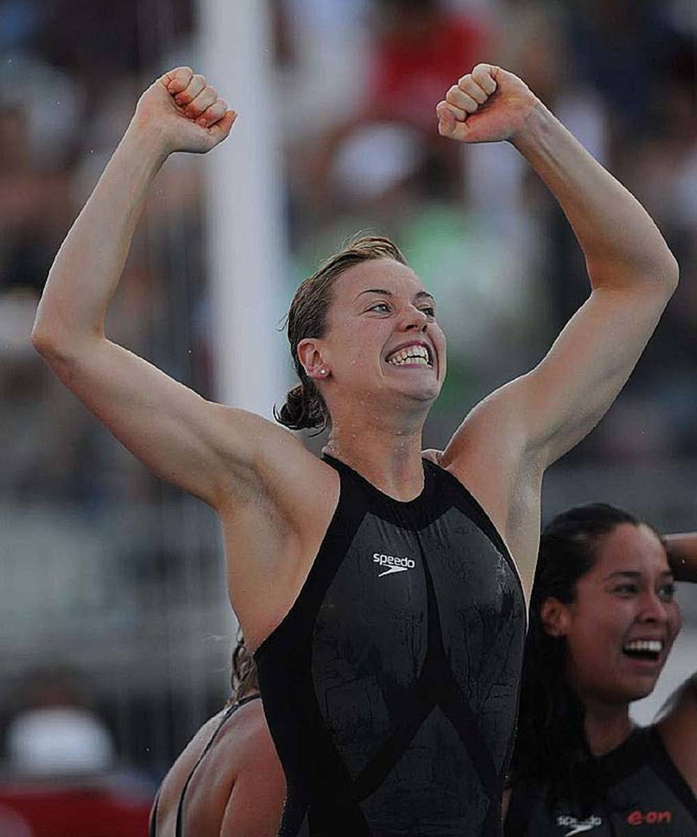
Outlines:
<svg viewBox="0 0 697 837"><path fill-rule="evenodd" d="M333 417L323 453L349 465L395 500L413 500L424 481L422 425L395 427L370 417L359 423Z"/></svg>

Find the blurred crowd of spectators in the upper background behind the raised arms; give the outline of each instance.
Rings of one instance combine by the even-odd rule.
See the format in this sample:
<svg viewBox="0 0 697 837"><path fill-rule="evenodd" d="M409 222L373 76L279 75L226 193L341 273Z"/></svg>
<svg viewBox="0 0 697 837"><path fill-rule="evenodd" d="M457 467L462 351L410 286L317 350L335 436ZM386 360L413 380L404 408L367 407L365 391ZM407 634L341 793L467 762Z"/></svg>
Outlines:
<svg viewBox="0 0 697 837"><path fill-rule="evenodd" d="M436 102L484 60L519 74L617 174L681 266L678 293L625 393L569 461L697 456L692 0L268 5L288 295L349 234L373 229L400 244L436 295L449 340L427 445L537 362L588 290L571 230L514 149L463 148L437 135ZM0 0L3 503L70 506L89 519L114 503L168 496L44 369L28 335L54 254L137 95L164 69L193 64L197 37L194 0L122 0L106 11L80 0ZM214 84L225 95L225 80ZM109 331L208 396L200 168L173 160L160 177Z"/></svg>

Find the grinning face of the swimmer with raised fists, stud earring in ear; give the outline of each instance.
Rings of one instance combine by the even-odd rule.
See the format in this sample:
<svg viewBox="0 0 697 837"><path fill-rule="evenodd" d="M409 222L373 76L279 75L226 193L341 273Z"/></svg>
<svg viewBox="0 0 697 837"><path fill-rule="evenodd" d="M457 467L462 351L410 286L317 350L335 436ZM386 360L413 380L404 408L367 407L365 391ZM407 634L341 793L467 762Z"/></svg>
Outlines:
<svg viewBox="0 0 697 837"><path fill-rule="evenodd" d="M393 259L340 275L325 336L301 341L298 351L308 374L323 381L330 412L344 398L427 407L446 371L435 302L414 271Z"/></svg>

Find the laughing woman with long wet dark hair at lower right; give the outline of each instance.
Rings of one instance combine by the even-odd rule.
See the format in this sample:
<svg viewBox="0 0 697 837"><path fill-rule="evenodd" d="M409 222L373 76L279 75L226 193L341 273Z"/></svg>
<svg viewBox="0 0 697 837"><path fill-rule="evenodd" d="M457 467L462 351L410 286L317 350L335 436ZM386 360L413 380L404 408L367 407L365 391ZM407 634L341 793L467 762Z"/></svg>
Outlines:
<svg viewBox="0 0 697 837"><path fill-rule="evenodd" d="M697 582L697 534L662 540L603 504L546 526L507 837L697 834L697 674L652 726L629 716L679 632L675 581Z"/></svg>

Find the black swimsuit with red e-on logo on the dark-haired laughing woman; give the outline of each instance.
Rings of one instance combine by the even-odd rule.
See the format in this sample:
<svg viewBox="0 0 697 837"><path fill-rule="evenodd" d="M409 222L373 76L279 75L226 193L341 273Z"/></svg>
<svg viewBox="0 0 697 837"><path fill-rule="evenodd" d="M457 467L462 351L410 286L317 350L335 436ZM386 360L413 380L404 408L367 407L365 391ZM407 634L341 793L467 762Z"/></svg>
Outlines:
<svg viewBox="0 0 697 837"><path fill-rule="evenodd" d="M542 785L514 788L506 837L693 837L697 801L663 747L655 727L643 727L607 756L595 759L606 798L591 810L550 805Z"/></svg>

